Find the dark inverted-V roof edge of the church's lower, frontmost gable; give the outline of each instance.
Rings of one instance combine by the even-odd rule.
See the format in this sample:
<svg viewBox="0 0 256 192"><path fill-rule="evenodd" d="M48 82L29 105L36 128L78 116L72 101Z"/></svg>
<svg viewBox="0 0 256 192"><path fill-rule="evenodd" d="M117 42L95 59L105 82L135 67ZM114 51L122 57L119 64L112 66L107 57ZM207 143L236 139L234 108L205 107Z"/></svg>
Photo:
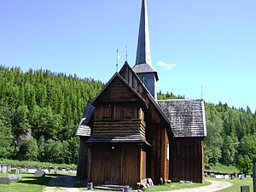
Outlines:
<svg viewBox="0 0 256 192"><path fill-rule="evenodd" d="M145 108L148 108L147 102L143 99L143 96L139 95L139 94L137 93L137 91L134 90L134 89L131 87L131 85L128 84L128 83L125 81L125 79L124 79L119 73L114 73L113 77L108 81L108 84L106 84L106 85L102 88L102 90L98 93L98 95L95 97L95 99L91 102L92 105L94 105L94 103L96 103L96 101L97 101L98 98L102 95L102 93L103 93L105 90L107 90L109 84L111 84L111 83L113 82L113 79L116 79L116 78L120 79L120 80L137 96L137 98L138 98L141 102L143 102Z"/></svg>

